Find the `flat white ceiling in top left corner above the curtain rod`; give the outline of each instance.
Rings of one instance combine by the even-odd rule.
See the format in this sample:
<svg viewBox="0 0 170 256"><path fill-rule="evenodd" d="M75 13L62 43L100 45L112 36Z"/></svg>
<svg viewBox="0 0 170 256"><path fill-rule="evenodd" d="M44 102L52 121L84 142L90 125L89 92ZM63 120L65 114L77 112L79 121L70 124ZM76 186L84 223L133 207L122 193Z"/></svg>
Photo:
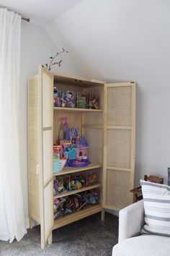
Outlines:
<svg viewBox="0 0 170 256"><path fill-rule="evenodd" d="M30 22L45 27L83 0L0 0L0 7L30 18Z"/></svg>

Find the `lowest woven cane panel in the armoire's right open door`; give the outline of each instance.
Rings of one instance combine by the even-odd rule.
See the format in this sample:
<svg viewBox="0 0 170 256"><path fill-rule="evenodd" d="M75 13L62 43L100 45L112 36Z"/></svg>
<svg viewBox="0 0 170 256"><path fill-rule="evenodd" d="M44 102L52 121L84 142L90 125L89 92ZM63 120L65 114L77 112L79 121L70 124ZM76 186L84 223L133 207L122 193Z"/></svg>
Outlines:
<svg viewBox="0 0 170 256"><path fill-rule="evenodd" d="M130 202L130 172L107 169L107 205L124 208Z"/></svg>

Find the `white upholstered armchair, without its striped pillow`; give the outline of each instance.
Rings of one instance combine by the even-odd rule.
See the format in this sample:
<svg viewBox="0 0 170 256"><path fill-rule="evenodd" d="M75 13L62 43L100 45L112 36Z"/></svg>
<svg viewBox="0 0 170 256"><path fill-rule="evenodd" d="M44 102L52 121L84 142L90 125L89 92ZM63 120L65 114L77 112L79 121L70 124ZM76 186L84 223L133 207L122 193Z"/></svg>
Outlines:
<svg viewBox="0 0 170 256"><path fill-rule="evenodd" d="M169 256L170 237L141 234L144 223L143 200L120 210L119 242L112 256Z"/></svg>

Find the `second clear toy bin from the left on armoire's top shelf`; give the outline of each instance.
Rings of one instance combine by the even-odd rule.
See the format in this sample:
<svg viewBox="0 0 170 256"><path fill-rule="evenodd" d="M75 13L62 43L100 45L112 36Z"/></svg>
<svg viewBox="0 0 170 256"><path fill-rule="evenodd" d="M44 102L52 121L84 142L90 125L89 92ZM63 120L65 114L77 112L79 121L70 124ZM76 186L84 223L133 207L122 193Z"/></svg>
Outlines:
<svg viewBox="0 0 170 256"><path fill-rule="evenodd" d="M76 108L76 92L71 90L63 90L63 103L64 108Z"/></svg>

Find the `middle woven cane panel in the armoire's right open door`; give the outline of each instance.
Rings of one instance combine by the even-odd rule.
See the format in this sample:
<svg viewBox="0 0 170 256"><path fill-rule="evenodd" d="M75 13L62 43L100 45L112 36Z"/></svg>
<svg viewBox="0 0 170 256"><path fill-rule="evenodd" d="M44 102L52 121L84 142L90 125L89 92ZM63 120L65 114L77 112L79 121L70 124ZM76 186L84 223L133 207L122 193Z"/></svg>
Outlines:
<svg viewBox="0 0 170 256"><path fill-rule="evenodd" d="M130 145L130 129L109 129L107 134L107 165L130 168Z"/></svg>

